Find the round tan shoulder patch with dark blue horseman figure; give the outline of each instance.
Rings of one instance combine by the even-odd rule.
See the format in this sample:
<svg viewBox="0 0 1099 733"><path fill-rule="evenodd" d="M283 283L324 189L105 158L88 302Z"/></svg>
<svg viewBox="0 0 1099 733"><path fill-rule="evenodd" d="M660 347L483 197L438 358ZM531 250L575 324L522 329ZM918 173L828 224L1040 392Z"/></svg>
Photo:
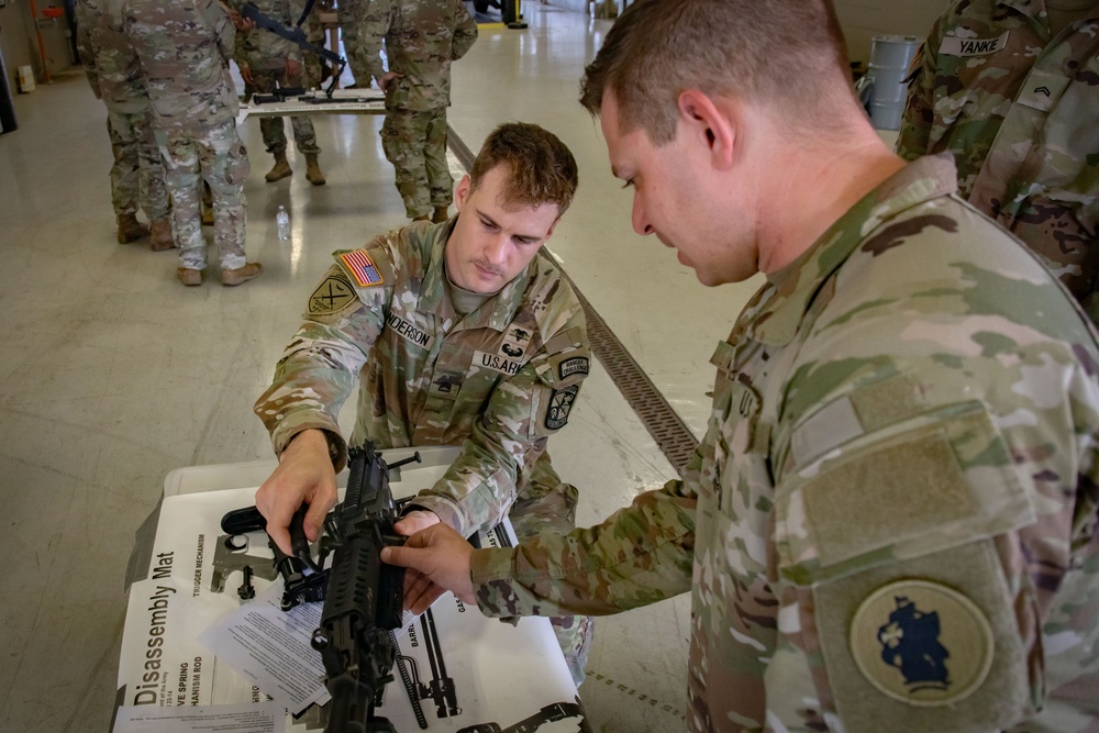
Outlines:
<svg viewBox="0 0 1099 733"><path fill-rule="evenodd" d="M957 702L992 666L992 628L961 592L924 580L878 588L851 622L859 671L891 698L920 707Z"/></svg>

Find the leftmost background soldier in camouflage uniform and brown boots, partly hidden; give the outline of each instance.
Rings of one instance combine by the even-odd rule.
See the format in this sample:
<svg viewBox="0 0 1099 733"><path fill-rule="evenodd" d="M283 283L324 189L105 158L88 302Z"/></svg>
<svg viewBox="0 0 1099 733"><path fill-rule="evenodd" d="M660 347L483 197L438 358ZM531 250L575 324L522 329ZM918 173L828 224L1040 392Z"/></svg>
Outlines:
<svg viewBox="0 0 1099 733"><path fill-rule="evenodd" d="M107 131L114 152L111 201L119 244L148 236L154 252L170 249L168 191L160 151L153 136L153 109L141 64L122 27L122 0L79 0L77 47L88 84L107 105ZM149 229L137 221L145 210Z"/></svg>

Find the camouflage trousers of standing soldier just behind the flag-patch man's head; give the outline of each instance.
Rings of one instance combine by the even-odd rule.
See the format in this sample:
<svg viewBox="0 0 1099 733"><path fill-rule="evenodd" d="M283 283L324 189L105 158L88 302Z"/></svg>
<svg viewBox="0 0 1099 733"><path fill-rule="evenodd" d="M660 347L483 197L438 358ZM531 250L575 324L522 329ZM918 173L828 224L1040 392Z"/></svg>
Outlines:
<svg viewBox="0 0 1099 733"><path fill-rule="evenodd" d="M454 200L454 179L446 165L446 108L425 112L388 110L381 147L397 171L397 190L409 219Z"/></svg>

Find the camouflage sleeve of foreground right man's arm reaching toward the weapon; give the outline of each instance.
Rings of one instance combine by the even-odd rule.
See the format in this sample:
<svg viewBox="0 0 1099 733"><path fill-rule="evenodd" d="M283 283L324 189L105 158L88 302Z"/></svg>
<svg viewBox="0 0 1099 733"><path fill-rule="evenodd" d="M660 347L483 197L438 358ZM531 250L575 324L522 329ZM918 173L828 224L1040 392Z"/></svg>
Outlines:
<svg viewBox="0 0 1099 733"><path fill-rule="evenodd" d="M639 495L597 526L475 551L470 577L481 612L606 615L689 591L699 462L696 452L684 480Z"/></svg>

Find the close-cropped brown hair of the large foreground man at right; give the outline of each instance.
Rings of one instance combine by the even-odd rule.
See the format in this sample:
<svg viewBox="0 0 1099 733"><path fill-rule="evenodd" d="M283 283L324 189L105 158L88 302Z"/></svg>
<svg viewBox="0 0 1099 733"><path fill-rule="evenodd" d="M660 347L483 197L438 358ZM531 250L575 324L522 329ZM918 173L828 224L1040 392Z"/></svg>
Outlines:
<svg viewBox="0 0 1099 733"><path fill-rule="evenodd" d="M687 89L766 102L793 124L828 126L830 100L850 91L850 78L829 0L637 0L585 70L580 103L598 115L611 92L621 131L640 127L660 145L675 136Z"/></svg>

